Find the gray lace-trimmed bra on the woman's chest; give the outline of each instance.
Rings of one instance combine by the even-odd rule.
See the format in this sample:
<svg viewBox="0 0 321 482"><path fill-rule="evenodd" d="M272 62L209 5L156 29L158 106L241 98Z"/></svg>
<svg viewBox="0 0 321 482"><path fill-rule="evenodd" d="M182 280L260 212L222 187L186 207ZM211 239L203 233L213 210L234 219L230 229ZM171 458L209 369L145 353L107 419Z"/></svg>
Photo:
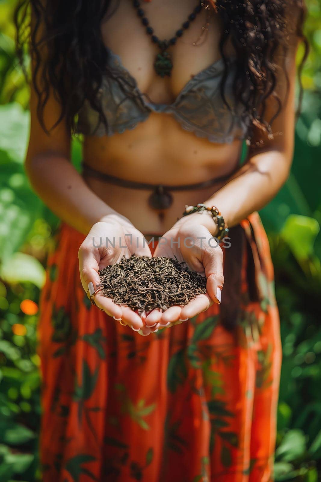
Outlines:
<svg viewBox="0 0 321 482"><path fill-rule="evenodd" d="M99 114L86 99L78 113L77 132L86 135L113 135L134 129L139 122L148 118L151 112L171 114L186 131L198 137L207 137L210 142L231 143L235 138L246 137L247 126L241 107L237 110L232 95L236 57L229 59L229 72L225 85L225 98L231 110L220 95L219 83L224 72L224 61L219 59L194 75L183 87L172 104L154 104L147 94L142 94L136 80L123 66L119 55L109 52L109 67L118 81L103 77L99 95L108 128L99 121Z"/></svg>

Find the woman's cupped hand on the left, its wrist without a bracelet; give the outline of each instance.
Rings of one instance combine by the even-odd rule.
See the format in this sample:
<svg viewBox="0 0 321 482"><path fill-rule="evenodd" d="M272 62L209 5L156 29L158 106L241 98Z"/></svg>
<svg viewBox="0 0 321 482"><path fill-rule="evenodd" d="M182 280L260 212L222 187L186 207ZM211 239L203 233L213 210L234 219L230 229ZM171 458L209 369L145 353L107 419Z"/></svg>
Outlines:
<svg viewBox="0 0 321 482"><path fill-rule="evenodd" d="M152 256L141 232L120 214L108 214L103 217L92 226L78 251L80 279L84 290L96 290L100 284L98 270L118 263L123 256L129 258L132 254ZM128 306L116 305L111 298L103 296L101 292L95 295L95 303L109 316L117 321L122 320L133 330L144 330L141 317Z"/></svg>

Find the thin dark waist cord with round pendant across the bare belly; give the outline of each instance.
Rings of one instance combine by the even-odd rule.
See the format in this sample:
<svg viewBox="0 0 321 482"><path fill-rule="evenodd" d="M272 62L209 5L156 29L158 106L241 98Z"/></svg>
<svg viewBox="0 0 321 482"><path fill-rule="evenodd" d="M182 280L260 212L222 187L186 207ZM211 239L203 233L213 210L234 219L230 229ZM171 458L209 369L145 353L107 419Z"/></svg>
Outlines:
<svg viewBox="0 0 321 482"><path fill-rule="evenodd" d="M106 181L115 186L130 187L131 189L145 189L153 191L148 199L149 205L156 210L168 209L173 202L173 197L170 191L187 191L193 189L204 189L205 187L214 186L219 182L226 181L233 173L225 174L213 179L194 184L179 184L179 185L164 185L164 184L149 184L144 182L128 181L120 177L112 176L110 174L101 173L92 167L82 162L82 172L90 177L95 177L100 181Z"/></svg>

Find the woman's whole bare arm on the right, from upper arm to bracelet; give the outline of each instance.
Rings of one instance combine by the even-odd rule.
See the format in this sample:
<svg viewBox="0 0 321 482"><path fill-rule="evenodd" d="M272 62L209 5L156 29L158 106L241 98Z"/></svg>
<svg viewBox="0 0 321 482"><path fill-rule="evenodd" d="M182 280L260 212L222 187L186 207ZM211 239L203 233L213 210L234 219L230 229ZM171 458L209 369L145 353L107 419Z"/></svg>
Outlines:
<svg viewBox="0 0 321 482"><path fill-rule="evenodd" d="M254 128L252 146L263 141L265 147L250 148L244 166L205 201L206 205L217 206L230 227L262 209L277 194L290 173L294 151L295 55L298 39L289 42L286 68L291 81L288 83L281 77L278 84L277 93L282 99L282 110L273 121L273 133L276 135L270 138L267 133ZM275 61L278 62L277 56ZM265 107L266 118L274 118L277 106L272 96Z"/></svg>

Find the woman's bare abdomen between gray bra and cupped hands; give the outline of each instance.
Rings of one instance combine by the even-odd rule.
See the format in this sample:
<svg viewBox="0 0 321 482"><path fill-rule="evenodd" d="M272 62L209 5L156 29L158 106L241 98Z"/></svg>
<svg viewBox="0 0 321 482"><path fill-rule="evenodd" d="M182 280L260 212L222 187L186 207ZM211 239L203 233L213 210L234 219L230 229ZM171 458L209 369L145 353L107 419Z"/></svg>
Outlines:
<svg viewBox="0 0 321 482"><path fill-rule="evenodd" d="M188 185L228 175L240 158L242 141L216 144L184 131L168 114L152 113L133 130L112 137L85 138L83 157L95 170L149 184ZM172 192L173 203L163 212L148 205L152 191L118 187L87 177L90 188L144 233L163 234L182 215L185 204L209 198L221 184L206 189Z"/></svg>

